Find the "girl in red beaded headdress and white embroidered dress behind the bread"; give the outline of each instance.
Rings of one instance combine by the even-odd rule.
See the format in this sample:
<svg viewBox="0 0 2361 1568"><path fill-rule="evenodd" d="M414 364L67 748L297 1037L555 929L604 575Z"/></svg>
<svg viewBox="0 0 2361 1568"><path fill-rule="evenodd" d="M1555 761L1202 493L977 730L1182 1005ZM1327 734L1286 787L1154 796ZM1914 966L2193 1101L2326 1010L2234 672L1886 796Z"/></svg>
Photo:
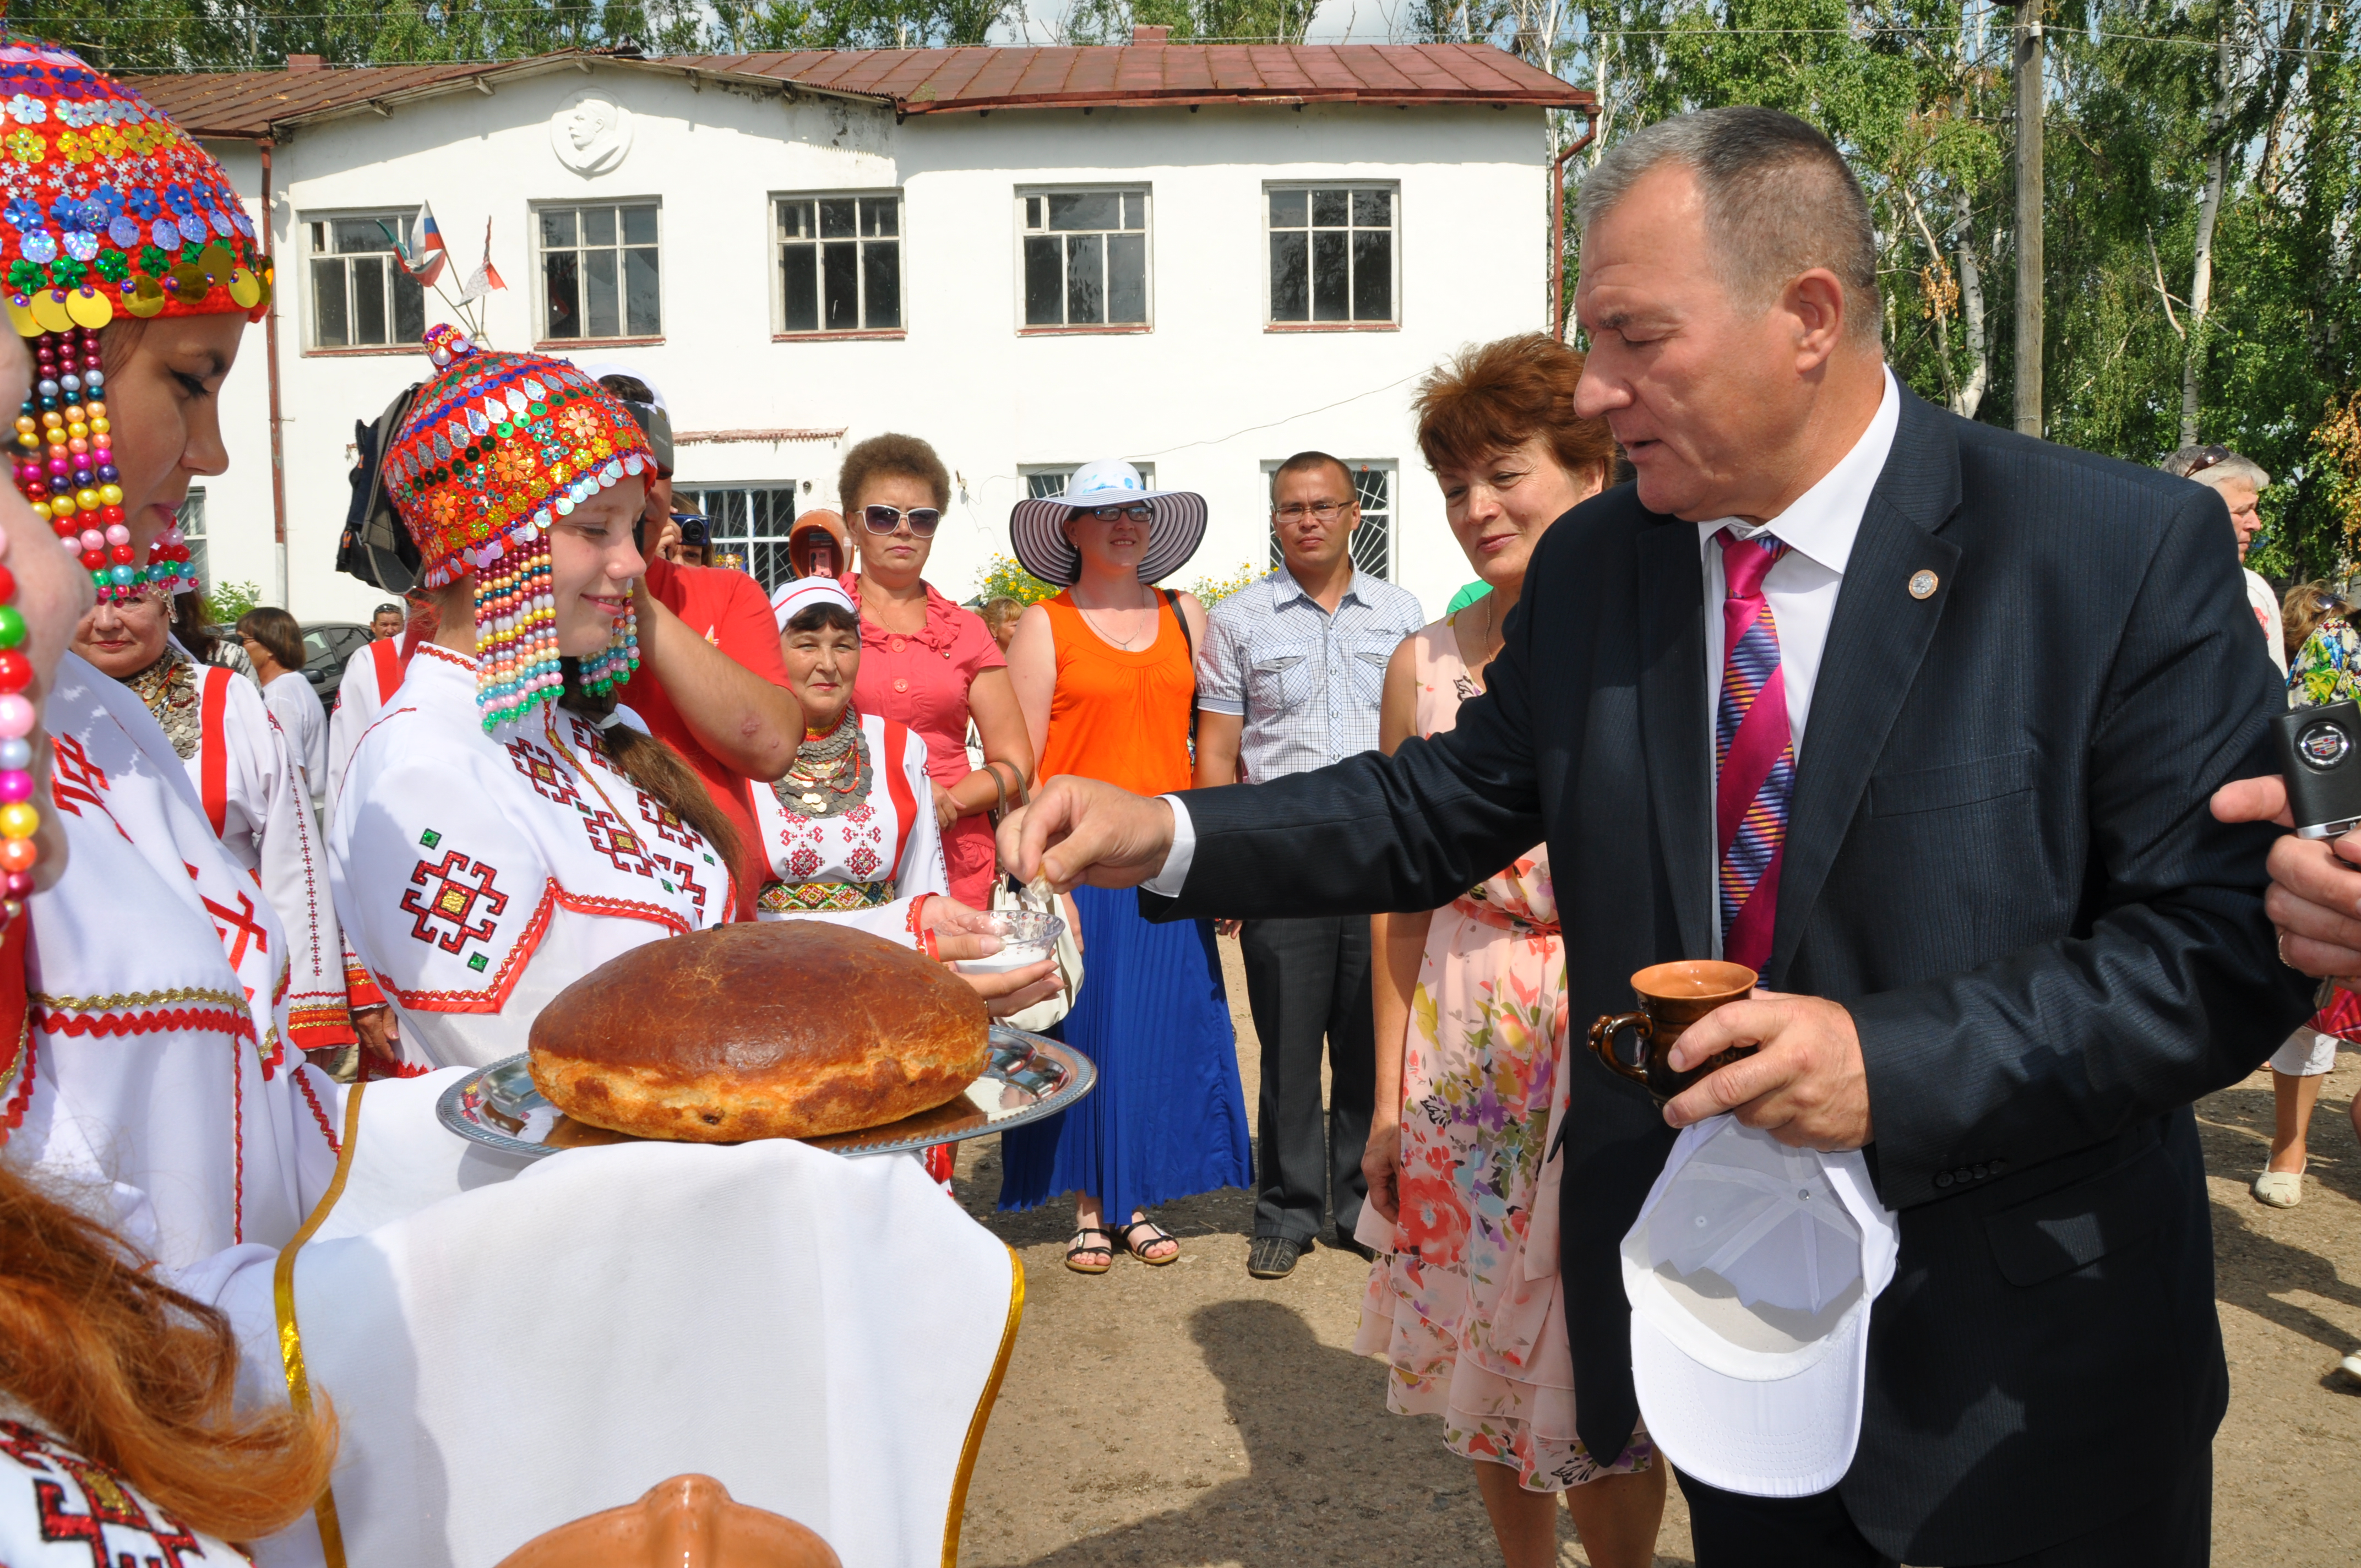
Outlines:
<svg viewBox="0 0 2361 1568"><path fill-rule="evenodd" d="M385 482L439 626L345 767L328 862L401 1053L482 1065L586 971L727 921L737 845L611 694L640 664L647 437L571 364L427 345Z"/></svg>

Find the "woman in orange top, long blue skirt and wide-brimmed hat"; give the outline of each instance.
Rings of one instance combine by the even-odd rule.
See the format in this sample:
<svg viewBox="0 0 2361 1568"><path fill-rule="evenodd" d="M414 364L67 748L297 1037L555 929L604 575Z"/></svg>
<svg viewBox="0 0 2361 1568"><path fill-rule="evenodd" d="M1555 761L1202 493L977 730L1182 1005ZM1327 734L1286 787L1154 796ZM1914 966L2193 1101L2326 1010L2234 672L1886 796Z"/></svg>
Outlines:
<svg viewBox="0 0 2361 1568"><path fill-rule="evenodd" d="M1204 498L1147 491L1129 463L1091 463L1062 496L1020 501L1008 534L1027 571L1067 583L1008 642L1041 777L1188 789L1204 607L1150 583L1197 550ZM1060 1037L1098 1063L1098 1093L1001 1138L1001 1207L1074 1193L1065 1263L1077 1273L1105 1273L1117 1247L1171 1263L1180 1242L1147 1204L1254 1181L1214 926L1152 926L1131 893L1072 897L1086 968ZM1107 1226L1110 1214L1129 1223Z"/></svg>

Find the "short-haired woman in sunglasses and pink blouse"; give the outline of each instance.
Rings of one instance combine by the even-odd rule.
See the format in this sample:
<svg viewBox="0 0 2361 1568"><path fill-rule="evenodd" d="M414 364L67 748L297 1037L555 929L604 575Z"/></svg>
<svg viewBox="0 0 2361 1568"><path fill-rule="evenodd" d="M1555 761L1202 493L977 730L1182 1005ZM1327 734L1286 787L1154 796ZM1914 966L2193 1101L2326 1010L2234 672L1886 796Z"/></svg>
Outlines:
<svg viewBox="0 0 2361 1568"><path fill-rule="evenodd" d="M918 437L876 435L845 453L836 494L859 553L859 569L843 579L862 616L852 706L926 737L951 897L985 909L994 867L989 812L1025 798L1034 756L999 642L973 609L926 583L951 475ZM966 744L970 718L985 744L985 765L975 770Z"/></svg>

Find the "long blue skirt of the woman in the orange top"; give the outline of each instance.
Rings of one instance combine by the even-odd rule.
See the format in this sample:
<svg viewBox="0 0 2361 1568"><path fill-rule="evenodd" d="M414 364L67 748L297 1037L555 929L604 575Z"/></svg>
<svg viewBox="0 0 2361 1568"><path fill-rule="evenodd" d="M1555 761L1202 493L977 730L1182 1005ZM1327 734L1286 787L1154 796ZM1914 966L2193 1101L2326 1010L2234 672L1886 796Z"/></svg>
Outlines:
<svg viewBox="0 0 2361 1568"><path fill-rule="evenodd" d="M1001 1207L1096 1193L1110 1223L1214 1188L1251 1188L1237 1034L1211 921L1155 926L1138 895L1074 888L1081 989L1051 1030L1098 1065L1098 1089L1001 1136Z"/></svg>

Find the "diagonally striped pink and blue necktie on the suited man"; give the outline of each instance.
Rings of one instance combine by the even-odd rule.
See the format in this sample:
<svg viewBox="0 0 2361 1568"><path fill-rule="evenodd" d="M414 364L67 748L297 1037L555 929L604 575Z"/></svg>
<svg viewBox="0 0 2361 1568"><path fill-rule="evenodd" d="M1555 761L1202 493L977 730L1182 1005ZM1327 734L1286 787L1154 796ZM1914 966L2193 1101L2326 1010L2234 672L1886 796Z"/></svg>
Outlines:
<svg viewBox="0 0 2361 1568"><path fill-rule="evenodd" d="M1778 621L1764 576L1787 553L1771 534L1721 529L1721 706L1714 713L1714 848L1721 890L1721 956L1761 973L1778 914L1778 867L1794 796L1794 737Z"/></svg>

